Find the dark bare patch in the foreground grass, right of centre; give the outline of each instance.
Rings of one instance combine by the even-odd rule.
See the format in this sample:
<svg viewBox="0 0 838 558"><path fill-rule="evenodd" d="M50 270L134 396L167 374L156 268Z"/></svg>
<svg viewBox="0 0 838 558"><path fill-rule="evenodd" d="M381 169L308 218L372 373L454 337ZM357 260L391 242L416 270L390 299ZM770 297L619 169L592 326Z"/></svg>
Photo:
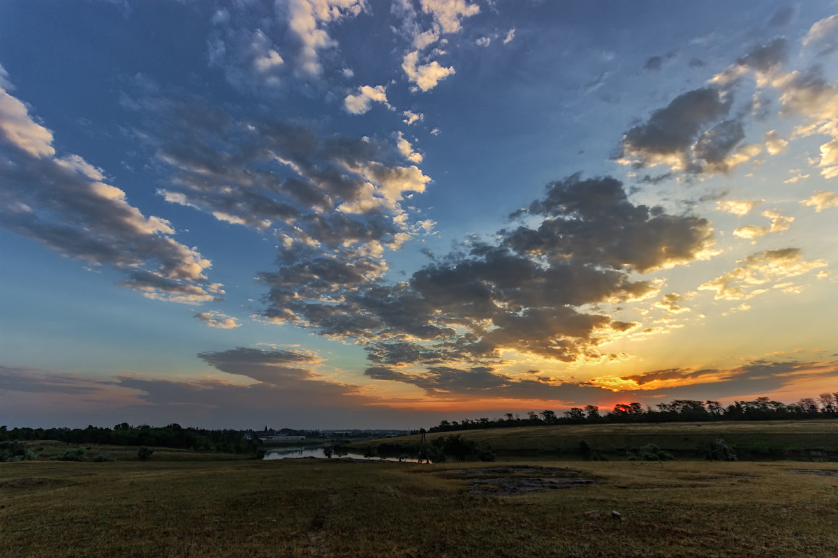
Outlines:
<svg viewBox="0 0 838 558"><path fill-rule="evenodd" d="M582 484L602 482L584 479L577 471L567 468L508 466L493 468L464 468L437 471L454 479L468 480L468 494L514 496L530 492L569 489Z"/></svg>

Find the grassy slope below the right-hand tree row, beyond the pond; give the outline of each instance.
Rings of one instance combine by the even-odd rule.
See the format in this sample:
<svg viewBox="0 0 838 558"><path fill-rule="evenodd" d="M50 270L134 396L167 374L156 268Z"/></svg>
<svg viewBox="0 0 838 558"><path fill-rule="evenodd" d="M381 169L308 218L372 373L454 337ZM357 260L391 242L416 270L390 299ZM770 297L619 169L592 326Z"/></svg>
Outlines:
<svg viewBox="0 0 838 558"><path fill-rule="evenodd" d="M701 457L701 443L723 438L740 458L815 458L821 452L838 456L838 421L664 422L639 424L578 424L463 430L463 438L488 443L503 458L578 458L585 440L608 459L625 459L647 443L679 458ZM450 433L428 434L428 439ZM390 442L418 443L419 436L390 438ZM350 444L362 448L365 443ZM815 453L811 453L815 450ZM823 457L821 455L821 457Z"/></svg>

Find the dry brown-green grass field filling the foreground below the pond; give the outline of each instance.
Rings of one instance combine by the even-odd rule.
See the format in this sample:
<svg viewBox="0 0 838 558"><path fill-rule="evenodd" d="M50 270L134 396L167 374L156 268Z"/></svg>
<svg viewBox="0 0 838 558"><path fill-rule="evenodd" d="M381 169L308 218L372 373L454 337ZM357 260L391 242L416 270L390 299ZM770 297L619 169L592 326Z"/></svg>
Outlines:
<svg viewBox="0 0 838 558"><path fill-rule="evenodd" d="M524 465L4 463L0 549L10 558L838 555L835 463Z"/></svg>

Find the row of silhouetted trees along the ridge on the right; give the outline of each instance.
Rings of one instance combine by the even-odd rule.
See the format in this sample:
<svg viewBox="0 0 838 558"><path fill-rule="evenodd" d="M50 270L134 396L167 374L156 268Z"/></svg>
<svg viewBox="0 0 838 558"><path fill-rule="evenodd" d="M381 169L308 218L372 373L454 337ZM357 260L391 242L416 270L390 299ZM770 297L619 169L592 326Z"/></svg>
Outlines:
<svg viewBox="0 0 838 558"><path fill-rule="evenodd" d="M753 401L737 401L723 406L717 401L676 399L643 407L640 403L618 403L603 412L596 405L573 407L557 415L555 411L530 411L525 417L507 412L503 417L441 421L428 432L451 432L477 428L524 427L541 424L600 424L606 422L704 422L764 421L812 418L838 418L838 392L821 393L817 398L804 397L795 403L772 401L757 397Z"/></svg>

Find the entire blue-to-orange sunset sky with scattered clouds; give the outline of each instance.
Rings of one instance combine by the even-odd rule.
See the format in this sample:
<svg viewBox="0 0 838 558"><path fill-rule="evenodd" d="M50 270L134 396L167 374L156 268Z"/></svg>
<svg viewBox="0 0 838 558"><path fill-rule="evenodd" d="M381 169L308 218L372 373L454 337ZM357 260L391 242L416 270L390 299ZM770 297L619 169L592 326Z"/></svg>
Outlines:
<svg viewBox="0 0 838 558"><path fill-rule="evenodd" d="M838 387L838 3L3 0L0 424Z"/></svg>

